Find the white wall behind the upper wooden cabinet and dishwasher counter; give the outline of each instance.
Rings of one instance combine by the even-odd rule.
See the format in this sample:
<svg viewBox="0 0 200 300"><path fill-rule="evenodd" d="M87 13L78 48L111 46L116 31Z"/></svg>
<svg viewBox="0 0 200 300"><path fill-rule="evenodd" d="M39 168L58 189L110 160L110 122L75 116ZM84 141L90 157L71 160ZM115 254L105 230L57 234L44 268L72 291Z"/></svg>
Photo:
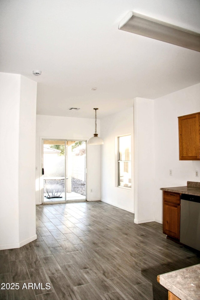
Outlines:
<svg viewBox="0 0 200 300"><path fill-rule="evenodd" d="M200 182L200 161L179 161L178 117L200 112L200 83L154 100L155 125L155 220L162 222L160 187ZM172 169L172 176L169 175Z"/></svg>

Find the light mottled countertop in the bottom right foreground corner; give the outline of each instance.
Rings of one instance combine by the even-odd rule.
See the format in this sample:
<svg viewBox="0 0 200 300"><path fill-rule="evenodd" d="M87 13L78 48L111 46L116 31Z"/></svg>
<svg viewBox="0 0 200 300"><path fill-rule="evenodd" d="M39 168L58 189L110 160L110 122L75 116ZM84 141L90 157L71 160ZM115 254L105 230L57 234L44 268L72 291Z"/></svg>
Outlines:
<svg viewBox="0 0 200 300"><path fill-rule="evenodd" d="M157 280L181 300L200 300L200 264L158 275Z"/></svg>

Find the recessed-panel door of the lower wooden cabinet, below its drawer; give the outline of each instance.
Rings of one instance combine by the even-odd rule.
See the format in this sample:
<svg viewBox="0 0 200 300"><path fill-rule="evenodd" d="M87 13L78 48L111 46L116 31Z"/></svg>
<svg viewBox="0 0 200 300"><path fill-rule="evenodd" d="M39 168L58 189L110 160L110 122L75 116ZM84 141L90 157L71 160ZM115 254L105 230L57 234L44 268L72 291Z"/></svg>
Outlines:
<svg viewBox="0 0 200 300"><path fill-rule="evenodd" d="M180 239L180 205L163 201L163 233Z"/></svg>

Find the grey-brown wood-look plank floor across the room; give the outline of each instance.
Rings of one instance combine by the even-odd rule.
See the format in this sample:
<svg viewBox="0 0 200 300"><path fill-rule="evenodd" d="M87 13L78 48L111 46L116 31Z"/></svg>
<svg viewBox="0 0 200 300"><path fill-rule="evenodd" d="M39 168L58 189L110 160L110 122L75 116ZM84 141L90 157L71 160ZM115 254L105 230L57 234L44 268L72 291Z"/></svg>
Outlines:
<svg viewBox="0 0 200 300"><path fill-rule="evenodd" d="M200 263L161 224L134 224L100 201L37 205L36 226L37 240L0 251L1 283L20 287L1 289L1 300L167 300L157 275Z"/></svg>

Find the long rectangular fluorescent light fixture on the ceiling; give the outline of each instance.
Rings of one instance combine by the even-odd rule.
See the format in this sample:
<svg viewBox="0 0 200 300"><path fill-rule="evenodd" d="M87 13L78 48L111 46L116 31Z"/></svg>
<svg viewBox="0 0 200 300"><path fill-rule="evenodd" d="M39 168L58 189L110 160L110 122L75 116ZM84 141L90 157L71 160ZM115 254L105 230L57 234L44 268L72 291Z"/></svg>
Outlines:
<svg viewBox="0 0 200 300"><path fill-rule="evenodd" d="M119 23L119 29L200 52L200 34L135 12Z"/></svg>

